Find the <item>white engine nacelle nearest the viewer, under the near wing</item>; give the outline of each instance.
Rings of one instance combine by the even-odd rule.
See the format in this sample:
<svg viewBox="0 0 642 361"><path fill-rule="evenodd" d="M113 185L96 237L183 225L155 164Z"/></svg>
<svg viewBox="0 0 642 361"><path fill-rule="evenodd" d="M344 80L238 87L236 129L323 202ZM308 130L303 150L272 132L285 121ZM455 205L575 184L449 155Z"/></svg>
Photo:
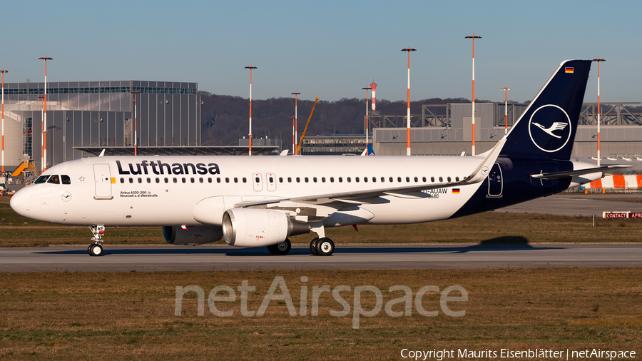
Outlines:
<svg viewBox="0 0 642 361"><path fill-rule="evenodd" d="M231 208L223 213L225 242L235 247L274 245L289 235L309 232L309 223L291 220L280 210Z"/></svg>

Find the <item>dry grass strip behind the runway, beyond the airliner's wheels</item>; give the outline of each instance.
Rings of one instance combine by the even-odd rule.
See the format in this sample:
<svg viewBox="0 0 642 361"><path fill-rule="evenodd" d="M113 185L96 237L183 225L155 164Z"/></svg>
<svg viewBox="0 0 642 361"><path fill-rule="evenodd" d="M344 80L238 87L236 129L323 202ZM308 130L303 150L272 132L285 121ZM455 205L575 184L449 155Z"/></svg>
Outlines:
<svg viewBox="0 0 642 361"><path fill-rule="evenodd" d="M340 243L478 243L519 239L523 242L640 242L641 220L603 220L596 227L589 217L568 217L526 213L481 213L454 220L414 225L360 225L331 228L327 236ZM29 220L9 208L9 197L0 198L0 247L42 244L89 243L86 227L53 225ZM310 235L290 238L307 244ZM110 227L108 244L164 244L160 227ZM221 241L223 242L223 241Z"/></svg>

